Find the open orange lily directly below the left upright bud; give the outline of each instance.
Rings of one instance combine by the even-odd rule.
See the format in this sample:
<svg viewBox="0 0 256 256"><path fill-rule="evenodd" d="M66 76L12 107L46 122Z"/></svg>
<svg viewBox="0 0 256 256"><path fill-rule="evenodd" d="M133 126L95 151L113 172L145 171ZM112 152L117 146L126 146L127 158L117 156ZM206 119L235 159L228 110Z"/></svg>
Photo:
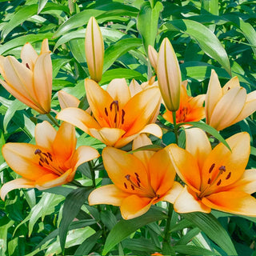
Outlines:
<svg viewBox="0 0 256 256"><path fill-rule="evenodd" d="M130 96L125 79L114 79L103 90L97 82L86 79L86 96L94 117L78 108L66 108L57 118L78 126L81 130L108 146L122 147L141 133L162 136L162 130L150 122L158 107L157 88Z"/></svg>

